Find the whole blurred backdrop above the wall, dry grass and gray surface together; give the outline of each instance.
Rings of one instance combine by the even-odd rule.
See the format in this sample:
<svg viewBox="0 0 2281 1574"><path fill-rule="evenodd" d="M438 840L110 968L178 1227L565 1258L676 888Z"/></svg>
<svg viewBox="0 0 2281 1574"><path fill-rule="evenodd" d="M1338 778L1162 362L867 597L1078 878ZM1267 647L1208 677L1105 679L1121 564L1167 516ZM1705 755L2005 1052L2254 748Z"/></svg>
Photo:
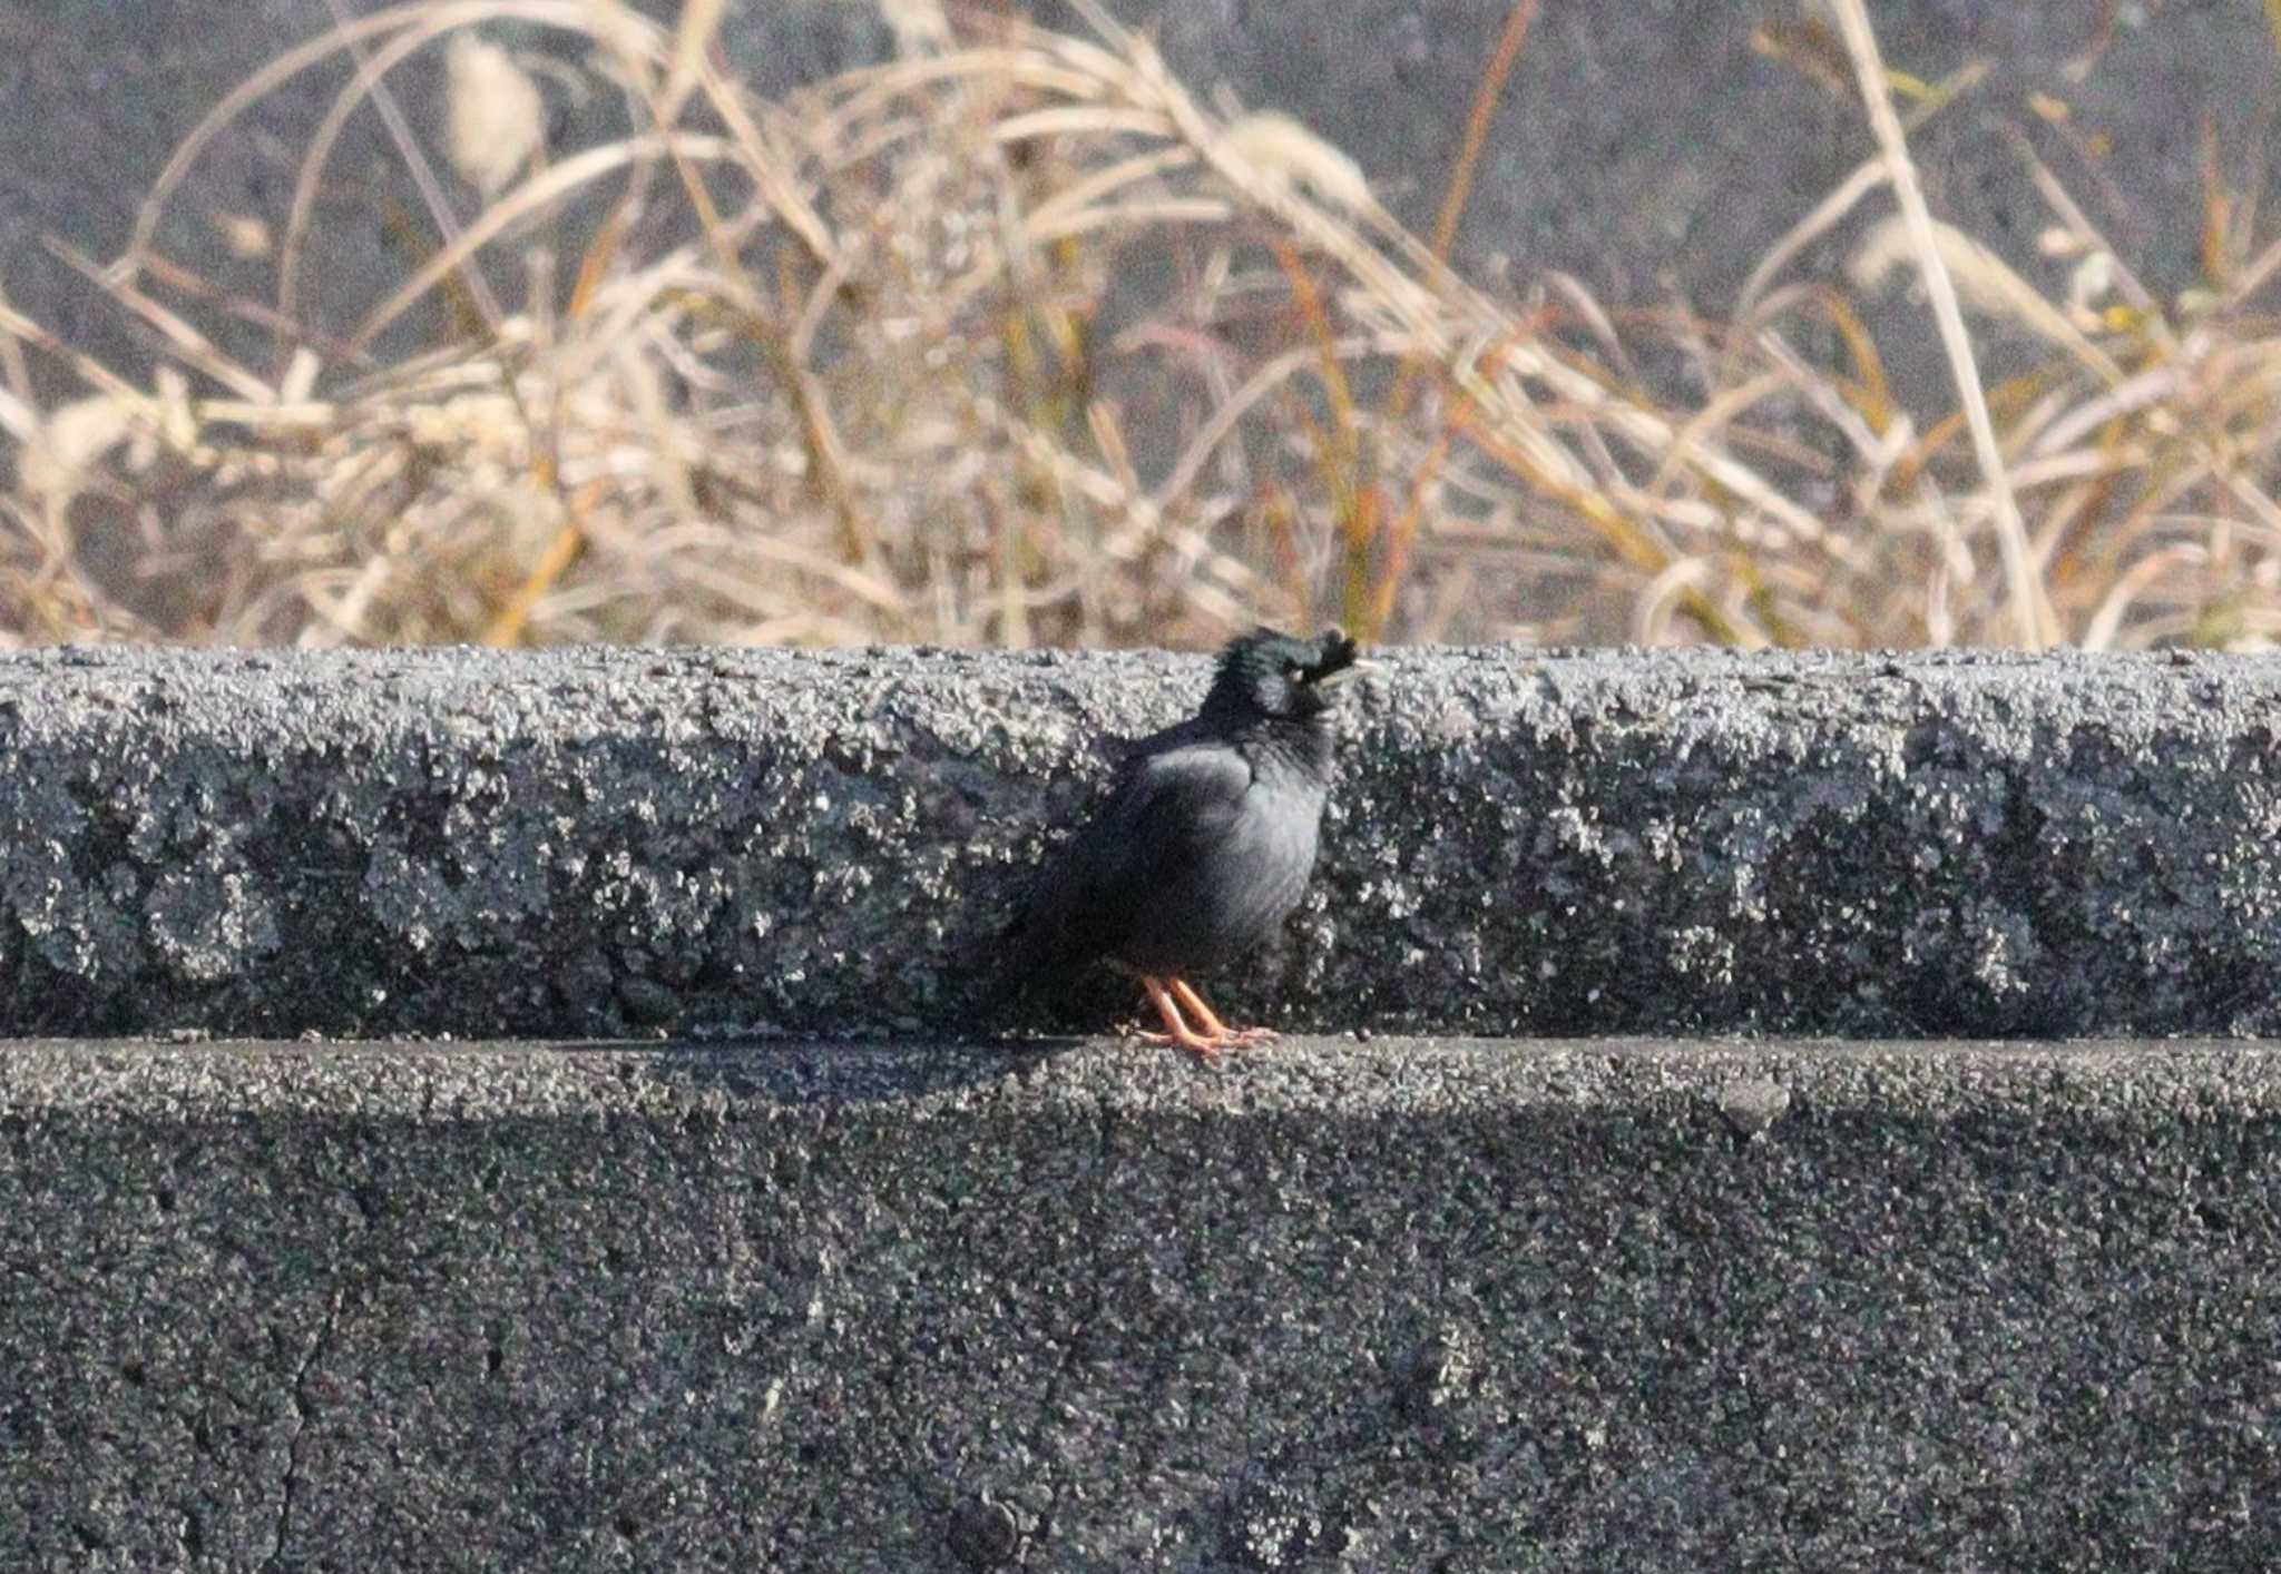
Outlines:
<svg viewBox="0 0 2281 1574"><path fill-rule="evenodd" d="M0 641L2265 650L2276 59L2185 0L0 0Z"/></svg>

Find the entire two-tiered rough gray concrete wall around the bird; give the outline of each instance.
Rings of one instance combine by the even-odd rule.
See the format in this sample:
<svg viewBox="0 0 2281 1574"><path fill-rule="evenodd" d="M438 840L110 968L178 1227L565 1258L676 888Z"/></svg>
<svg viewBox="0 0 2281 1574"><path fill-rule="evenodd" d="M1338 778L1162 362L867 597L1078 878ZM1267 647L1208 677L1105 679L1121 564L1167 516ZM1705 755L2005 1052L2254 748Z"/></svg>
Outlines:
<svg viewBox="0 0 2281 1574"><path fill-rule="evenodd" d="M2281 1538L2281 668L1394 652L1200 1068L988 935L1202 662L0 662L7 1569ZM1058 1013L1058 1015L1056 1015ZM851 1036L819 1042L826 1036Z"/></svg>

